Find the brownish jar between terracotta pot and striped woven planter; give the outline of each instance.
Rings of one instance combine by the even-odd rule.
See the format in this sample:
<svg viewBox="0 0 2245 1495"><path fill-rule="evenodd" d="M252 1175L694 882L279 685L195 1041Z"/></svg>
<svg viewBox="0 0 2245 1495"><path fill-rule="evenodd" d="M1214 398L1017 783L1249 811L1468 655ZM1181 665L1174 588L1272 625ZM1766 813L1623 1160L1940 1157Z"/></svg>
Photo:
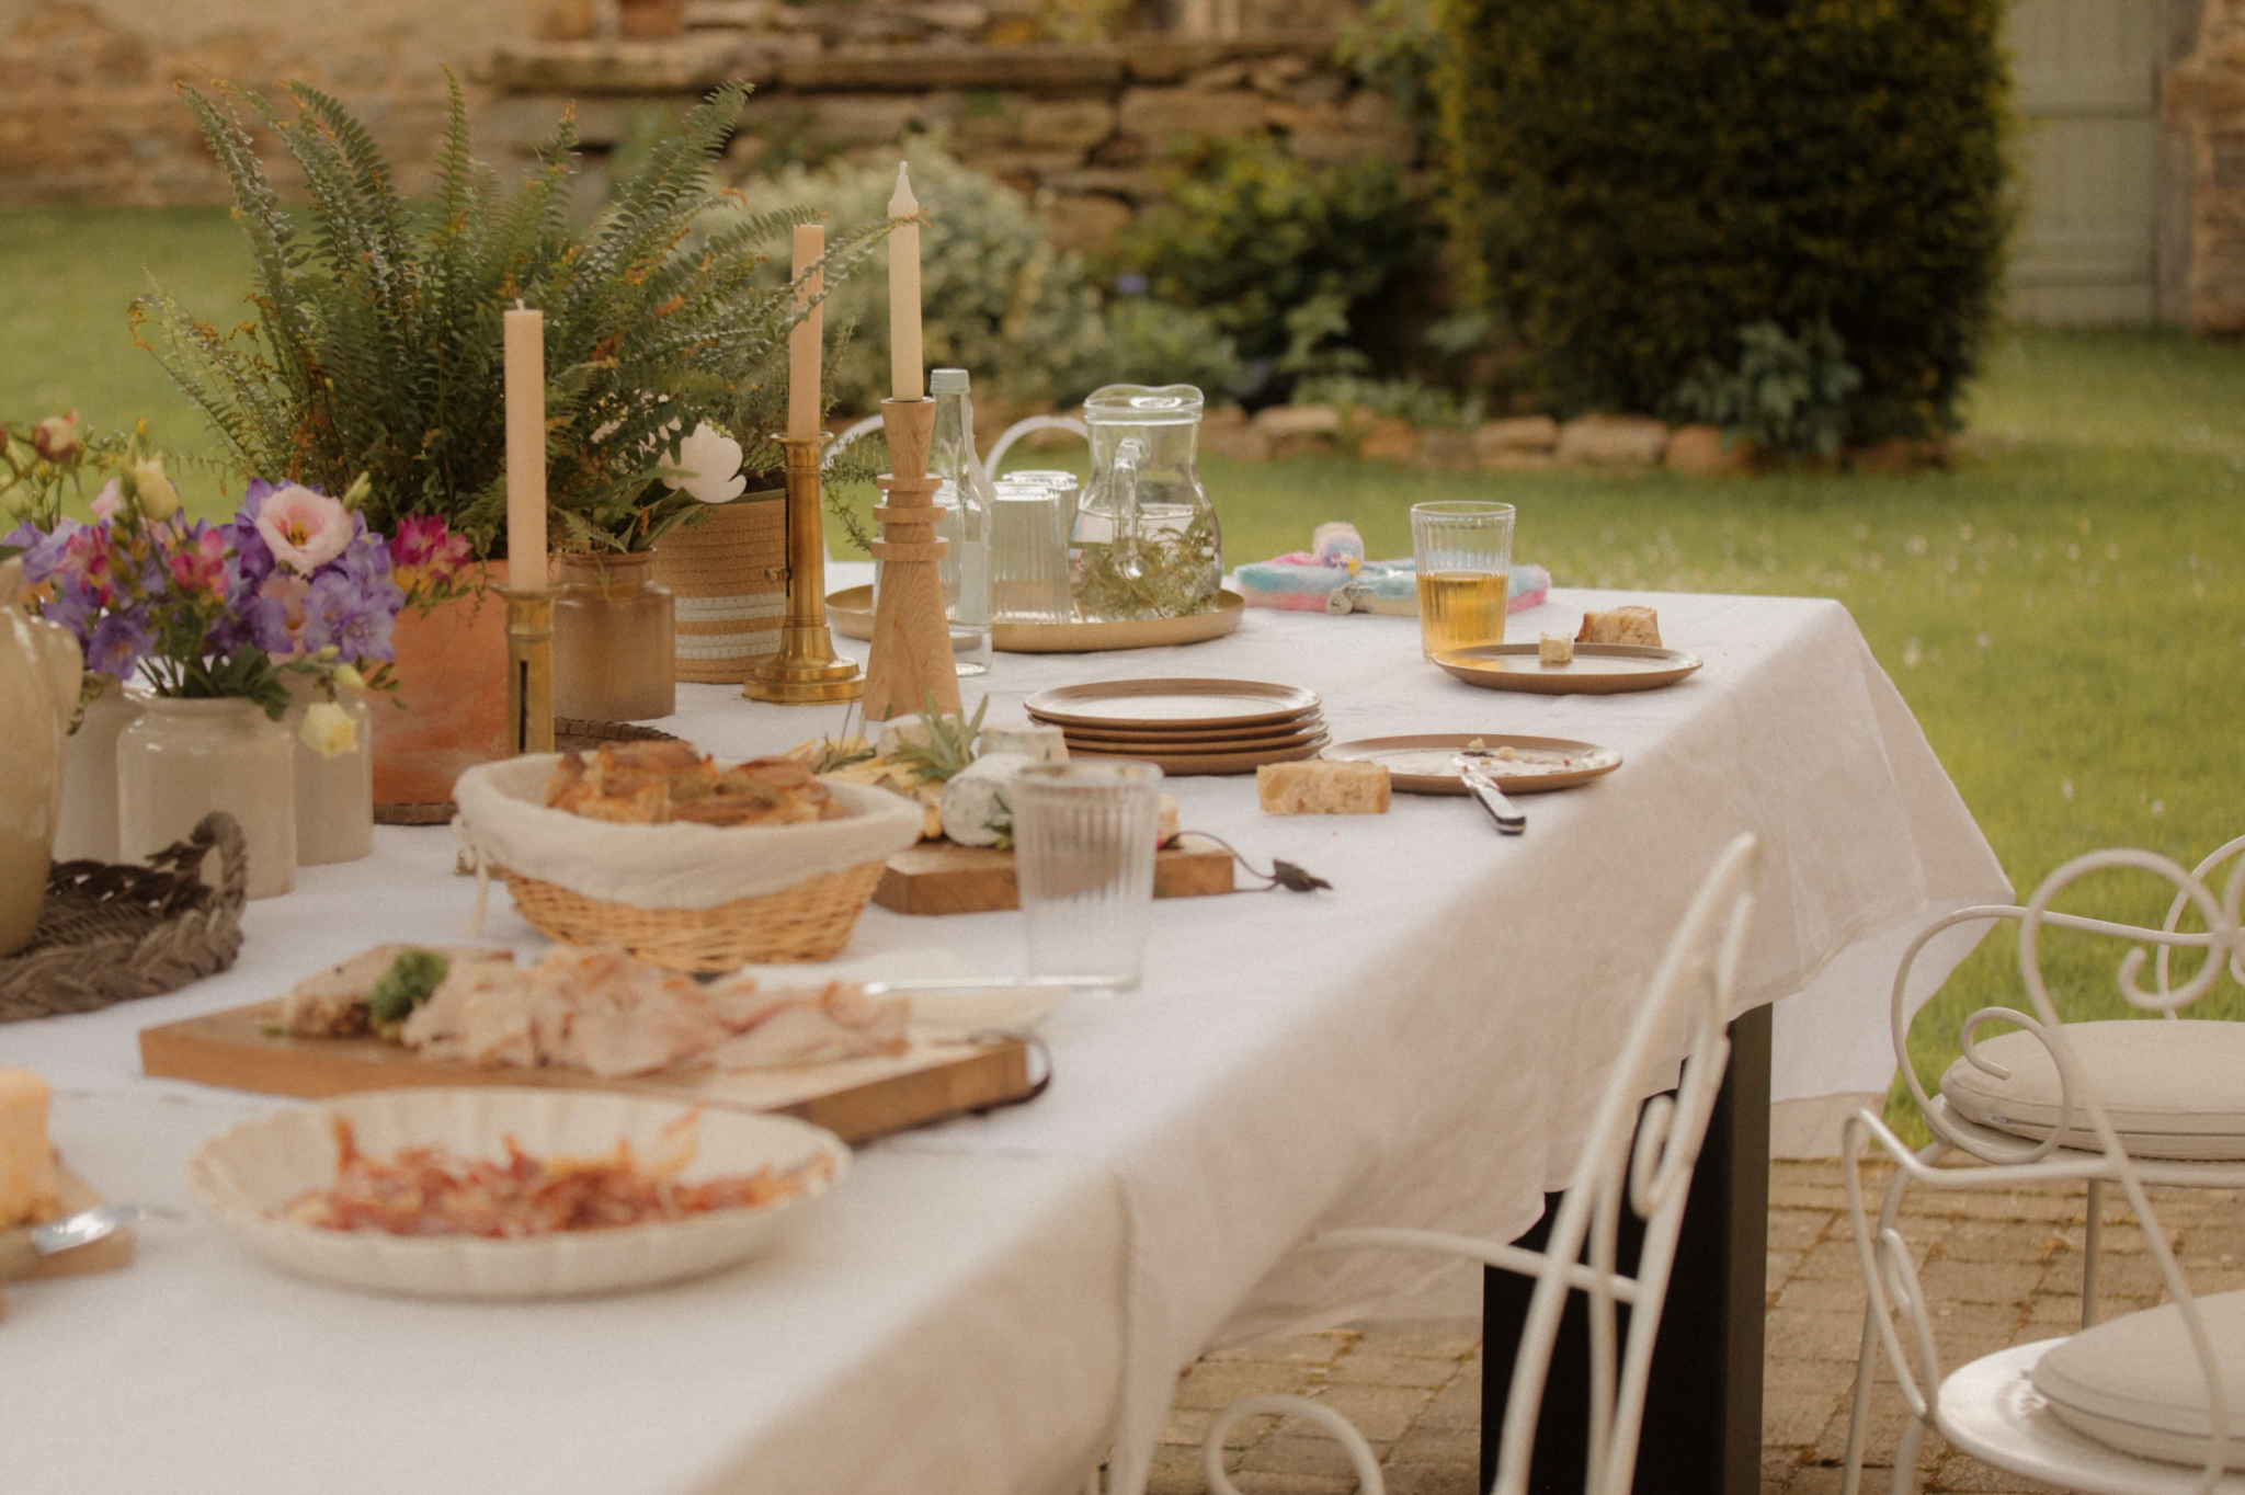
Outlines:
<svg viewBox="0 0 2245 1495"><path fill-rule="evenodd" d="M555 716L649 721L678 709L671 588L656 557L559 557Z"/></svg>

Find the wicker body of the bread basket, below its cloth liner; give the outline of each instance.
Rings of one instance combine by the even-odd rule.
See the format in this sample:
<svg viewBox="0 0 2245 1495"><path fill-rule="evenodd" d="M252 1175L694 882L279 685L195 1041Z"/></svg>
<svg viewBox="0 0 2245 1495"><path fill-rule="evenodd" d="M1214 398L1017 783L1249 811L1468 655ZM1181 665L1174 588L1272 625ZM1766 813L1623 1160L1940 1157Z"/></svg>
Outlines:
<svg viewBox="0 0 2245 1495"><path fill-rule="evenodd" d="M615 945L669 970L727 972L741 965L826 961L842 954L885 866L887 862L860 862L714 909L635 909L521 873L505 878L514 907L550 941Z"/></svg>

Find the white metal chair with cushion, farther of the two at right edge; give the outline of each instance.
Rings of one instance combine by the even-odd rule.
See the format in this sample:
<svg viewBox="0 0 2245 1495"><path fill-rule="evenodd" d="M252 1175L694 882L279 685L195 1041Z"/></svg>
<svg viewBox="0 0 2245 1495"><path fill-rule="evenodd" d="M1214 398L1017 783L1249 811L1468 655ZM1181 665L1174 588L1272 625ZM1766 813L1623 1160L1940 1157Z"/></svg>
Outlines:
<svg viewBox="0 0 2245 1495"><path fill-rule="evenodd" d="M2081 1241L2083 1329L2097 1322L2097 1262L2101 1253L2104 1194L2110 1178L2095 1170L2086 1174L2065 1170L2095 1158L2097 1138L2083 1125L2086 1118L2077 1116L2065 1102L2061 1084L2063 1071L2047 1057L2047 1046L2041 1042L2038 1024L2014 1008L1980 1008L1967 1017L1960 1035L1962 1057L1951 1064L1935 1093L1928 1093L1924 1082L1917 1077L1917 1068L1910 1064L1908 1051L1910 967L1915 965L1917 954L1944 929L1964 923L2016 920L2025 934L2029 911L2034 914L2036 929L2056 927L2101 934L2131 941L2139 952L2148 947L2153 952L2148 956L2155 981L2153 990L2139 992L2133 988L2133 976L2142 967L2144 959L2131 956L2133 965L2124 967L2124 976L2128 979L2122 983L2122 992L2131 1006L2157 1012L2164 1021L2144 1024L2137 1019L2117 1019L2072 1024L2074 1048L2083 1055L2090 1071L2099 1075L2097 1089L2101 1100L2108 1107L2108 1113L2117 1118L2122 1147L2128 1149L2137 1176L2144 1183L2218 1190L2245 1187L2245 1024L2182 1019L2182 1008L2198 1001L2220 979L2225 961L2218 956L2209 959L2196 979L2182 988L2175 988L2171 979L2171 956L2175 950L2211 952L2220 943L2223 936L2216 927L2205 932L2182 932L2182 916L2191 907L2200 907L2202 911L2218 907L2216 902L2200 900L2211 900L2207 889L2220 866L2229 860L2238 862L2232 871L2234 887L2236 875L2245 873L2245 857L2241 857L2241 853L2245 853L2245 837L2236 837L2216 849L2191 871L2182 871L2180 864L2169 862L2166 857L2153 857L2151 853L2097 853L2095 857L2081 857L2070 862L2059 873L2052 873L2052 878L2043 884L2047 896L2056 896L2061 887L2092 871L2153 871L2162 878L2180 880L2178 891L2169 902L2164 923L2157 929L2144 929L2104 918L2056 914L2047 909L2047 898L2043 905L2032 909L2016 905L1982 905L1949 914L1946 918L1940 918L1922 929L1917 938L1910 941L1910 947L1904 952L1902 965L1895 972L1890 1010L1895 1062L1902 1068L1902 1080L1910 1089L1926 1127L1933 1131L1933 1143L1919 1149L1915 1161L1933 1165L1942 1158L1951 1158L1951 1154L1964 1154L1991 1167L2034 1167L2050 1163L2056 1172L2043 1172L2036 1174L2036 1178L2050 1181L2061 1176L2081 1176L2088 1181L2088 1226ZM2234 896L2229 898L2229 918L2232 923L2236 918ZM2227 965L2236 981L2245 981L2245 965L2238 963L2236 954L2229 956ZM2032 981L2043 981L2041 970L2034 972ZM1980 1030L1989 1024L2012 1024L2018 1030L2005 1033L1996 1039L1980 1039ZM2232 1060L2236 1062L2236 1068L2229 1068ZM2207 1062L2220 1062L2223 1075L2241 1075L2241 1080L2225 1084L2223 1093L2211 1098L2211 1104L2200 1104L2200 1098L2193 1095L2175 1095L2175 1073L2184 1066L2205 1068ZM2162 1107L2169 1111L2164 1118L2148 1116L2148 1111ZM2065 1118L2065 1122L2059 1125L2059 1118ZM1886 1232L1895 1226L1895 1212L1902 1208L1902 1194L1913 1176L1913 1172L1904 1170L1888 1183L1886 1201L1879 1208L1877 1232ZM1987 1176L1978 1170L1973 1170L1971 1176L1978 1183L1987 1183ZM1859 1495L1861 1488L1877 1354L1875 1311L1872 1306L1866 1306L1863 1342L1857 1356L1854 1403L1848 1421L1848 1455L1841 1475L1841 1495Z"/></svg>

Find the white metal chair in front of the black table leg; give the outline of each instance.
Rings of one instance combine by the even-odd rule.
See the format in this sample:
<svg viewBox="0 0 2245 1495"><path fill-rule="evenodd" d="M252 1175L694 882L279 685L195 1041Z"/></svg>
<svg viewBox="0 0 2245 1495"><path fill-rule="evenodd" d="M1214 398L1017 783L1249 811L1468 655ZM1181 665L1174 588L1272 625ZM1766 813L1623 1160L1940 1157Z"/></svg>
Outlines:
<svg viewBox="0 0 2245 1495"><path fill-rule="evenodd" d="M1715 857L1684 914L1598 1100L1589 1140L1551 1226L1547 1250L1441 1230L1351 1228L1311 1239L1318 1248L1435 1250L1536 1277L1504 1407L1495 1495L1527 1491L1551 1349L1567 1295L1574 1291L1589 1297L1592 1425L1585 1491L1621 1495L1630 1486L1646 1376L1668 1295L1677 1230L1684 1223L1693 1167L1731 1057L1726 1026L1738 959L1753 916L1758 864L1756 837L1740 835ZM1646 1100L1648 1093L1664 1089L1679 1053L1684 1068L1675 1093ZM1634 1277L1614 1266L1623 1205L1646 1221ZM1630 1304L1630 1327L1619 1358L1614 1304ZM1385 1495L1378 1457L1363 1434L1331 1407L1302 1396L1248 1396L1210 1421L1201 1443L1201 1470L1212 1495L1239 1495L1224 1473L1226 1432L1239 1419L1266 1412L1300 1414L1322 1425L1347 1448L1363 1486L1360 1495Z"/></svg>

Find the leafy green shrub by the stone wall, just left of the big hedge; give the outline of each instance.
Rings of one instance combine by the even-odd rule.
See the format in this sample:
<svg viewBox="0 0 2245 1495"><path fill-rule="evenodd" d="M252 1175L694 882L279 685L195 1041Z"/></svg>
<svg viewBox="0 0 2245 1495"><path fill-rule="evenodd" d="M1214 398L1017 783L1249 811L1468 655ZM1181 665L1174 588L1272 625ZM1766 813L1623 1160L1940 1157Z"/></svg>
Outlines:
<svg viewBox="0 0 2245 1495"><path fill-rule="evenodd" d="M1206 139L1118 247L1156 299L1206 314L1244 359L1356 373L1396 361L1365 343L1396 341L1381 310L1423 276L1437 229L1392 162L1309 166L1268 137Z"/></svg>

